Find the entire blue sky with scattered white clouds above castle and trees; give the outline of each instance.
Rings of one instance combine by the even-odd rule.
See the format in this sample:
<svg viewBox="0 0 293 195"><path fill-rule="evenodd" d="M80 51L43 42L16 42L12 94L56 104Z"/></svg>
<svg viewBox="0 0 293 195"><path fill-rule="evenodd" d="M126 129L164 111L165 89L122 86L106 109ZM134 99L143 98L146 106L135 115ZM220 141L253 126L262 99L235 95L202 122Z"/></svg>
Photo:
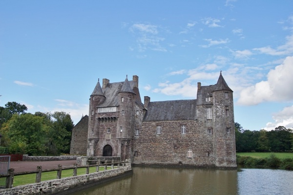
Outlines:
<svg viewBox="0 0 293 195"><path fill-rule="evenodd" d="M88 115L97 84L196 98L220 71L246 130L293 128L292 0L1 0L0 106ZM102 82L100 82L102 84Z"/></svg>

